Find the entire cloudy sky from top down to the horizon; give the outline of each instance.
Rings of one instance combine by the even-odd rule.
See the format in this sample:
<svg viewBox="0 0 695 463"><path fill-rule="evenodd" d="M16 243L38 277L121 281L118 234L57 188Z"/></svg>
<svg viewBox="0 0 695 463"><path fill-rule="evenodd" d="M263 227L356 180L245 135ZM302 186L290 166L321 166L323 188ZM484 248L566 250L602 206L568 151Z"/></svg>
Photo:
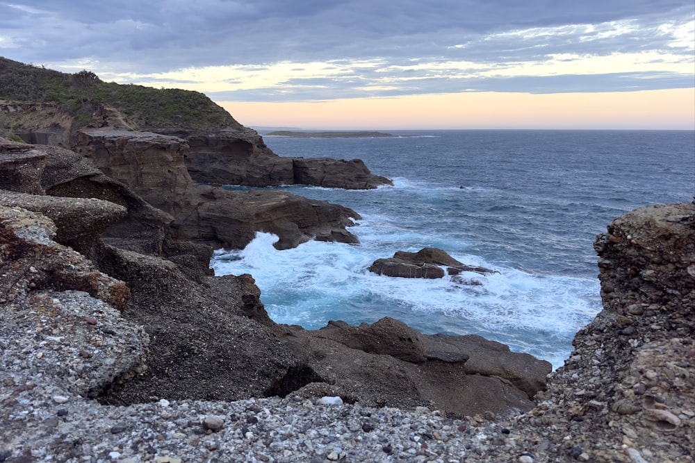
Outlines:
<svg viewBox="0 0 695 463"><path fill-rule="evenodd" d="M251 127L695 129L692 0L0 0L0 56Z"/></svg>

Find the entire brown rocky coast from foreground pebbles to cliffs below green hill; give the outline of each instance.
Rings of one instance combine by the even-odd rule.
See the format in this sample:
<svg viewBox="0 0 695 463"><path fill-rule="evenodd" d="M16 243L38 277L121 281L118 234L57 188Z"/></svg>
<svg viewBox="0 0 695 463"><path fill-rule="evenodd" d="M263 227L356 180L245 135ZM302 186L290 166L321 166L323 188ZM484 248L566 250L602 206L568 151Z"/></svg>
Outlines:
<svg viewBox="0 0 695 463"><path fill-rule="evenodd" d="M253 131L95 118L47 126L72 151L0 139L0 462L693 461L694 204L635 210L598 237L604 310L550 373L393 319L277 325L252 276L213 276L211 246L257 230L279 249L357 242L359 214L211 184L200 166L222 183L234 165L286 176ZM359 164L344 163L307 178L341 183Z"/></svg>

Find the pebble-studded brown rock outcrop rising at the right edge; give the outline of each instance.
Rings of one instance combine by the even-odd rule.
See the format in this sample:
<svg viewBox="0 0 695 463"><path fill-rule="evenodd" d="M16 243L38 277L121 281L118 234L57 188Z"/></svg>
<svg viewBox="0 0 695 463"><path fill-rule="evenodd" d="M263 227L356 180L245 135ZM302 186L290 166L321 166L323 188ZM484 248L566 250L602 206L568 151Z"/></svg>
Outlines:
<svg viewBox="0 0 695 463"><path fill-rule="evenodd" d="M557 461L582 454L606 463L690 461L695 204L628 212L595 248L604 308L577 333L575 351L525 422Z"/></svg>

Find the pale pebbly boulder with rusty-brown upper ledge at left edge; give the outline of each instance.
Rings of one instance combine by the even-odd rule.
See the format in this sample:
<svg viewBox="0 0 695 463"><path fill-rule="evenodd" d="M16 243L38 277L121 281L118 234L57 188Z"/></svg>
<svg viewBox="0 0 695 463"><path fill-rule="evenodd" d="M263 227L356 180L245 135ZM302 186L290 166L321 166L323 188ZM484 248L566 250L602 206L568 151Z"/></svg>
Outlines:
<svg viewBox="0 0 695 463"><path fill-rule="evenodd" d="M115 310L128 303L128 287L55 235L45 215L0 205L0 336L14 341L3 343L0 355L3 430L13 423L6 412L18 411L22 392L37 383L31 400L40 403L39 392L60 394L51 406L67 397L94 398L146 369L147 333Z"/></svg>

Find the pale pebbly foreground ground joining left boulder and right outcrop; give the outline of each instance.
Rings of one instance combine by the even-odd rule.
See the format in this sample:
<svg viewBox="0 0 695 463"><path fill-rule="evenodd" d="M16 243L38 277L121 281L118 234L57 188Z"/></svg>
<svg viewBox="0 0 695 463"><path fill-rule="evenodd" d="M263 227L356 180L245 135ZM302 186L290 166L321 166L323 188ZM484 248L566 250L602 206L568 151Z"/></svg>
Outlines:
<svg viewBox="0 0 695 463"><path fill-rule="evenodd" d="M9 259L19 257L10 233L34 251L63 253L54 263L66 272L94 272L52 242L54 225L42 214L1 212L3 277L17 274L8 262L27 263ZM100 405L90 397L101 387L144 368L147 333L83 291L32 288L40 268L31 265L9 284L3 278L0 460L692 462L694 226L690 203L616 219L596 244L605 309L575 337L575 351L549 375L534 407L460 419L307 390L231 402L153 397ZM43 264L35 256L28 262ZM630 271L638 264L641 278ZM107 278L95 286L117 284Z"/></svg>

